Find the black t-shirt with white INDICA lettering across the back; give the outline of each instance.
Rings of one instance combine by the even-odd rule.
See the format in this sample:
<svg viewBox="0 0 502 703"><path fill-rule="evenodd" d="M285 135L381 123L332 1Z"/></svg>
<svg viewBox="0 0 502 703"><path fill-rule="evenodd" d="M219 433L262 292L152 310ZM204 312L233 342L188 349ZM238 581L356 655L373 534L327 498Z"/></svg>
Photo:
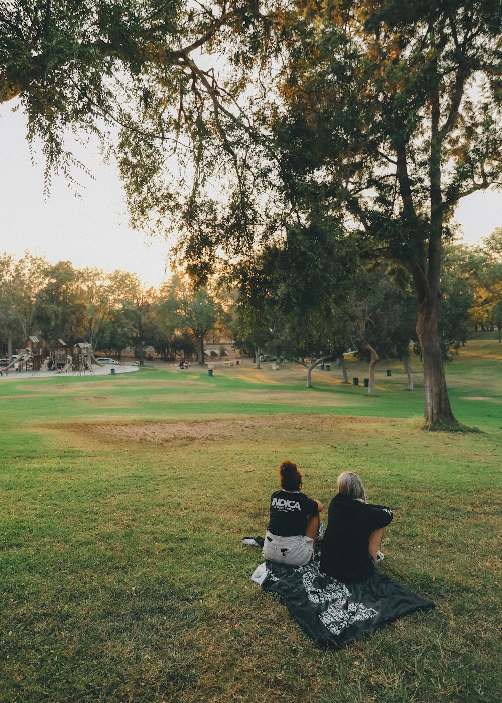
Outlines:
<svg viewBox="0 0 502 703"><path fill-rule="evenodd" d="M317 515L318 510L317 501L300 491L276 491L270 498L270 522L266 529L281 537L305 534L307 516Z"/></svg>

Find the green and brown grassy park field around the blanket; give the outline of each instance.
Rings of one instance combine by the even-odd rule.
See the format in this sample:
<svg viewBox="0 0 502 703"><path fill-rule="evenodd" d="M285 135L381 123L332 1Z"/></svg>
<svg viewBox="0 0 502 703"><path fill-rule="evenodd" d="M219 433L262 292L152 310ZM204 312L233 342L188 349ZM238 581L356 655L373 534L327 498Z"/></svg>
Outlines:
<svg viewBox="0 0 502 703"><path fill-rule="evenodd" d="M502 345L446 366L477 434L421 429L413 363L408 392L382 361L375 398L334 364L313 389L268 364L0 379L1 702L498 702ZM335 652L304 636L240 541L284 458L325 505L359 472L396 509L382 571L436 610Z"/></svg>

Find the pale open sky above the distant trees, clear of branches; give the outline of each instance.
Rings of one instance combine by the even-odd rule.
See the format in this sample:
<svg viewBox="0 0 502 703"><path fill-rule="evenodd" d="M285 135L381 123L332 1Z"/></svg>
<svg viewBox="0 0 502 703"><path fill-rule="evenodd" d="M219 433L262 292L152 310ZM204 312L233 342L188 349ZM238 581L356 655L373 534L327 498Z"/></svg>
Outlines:
<svg viewBox="0 0 502 703"><path fill-rule="evenodd" d="M161 238L131 230L116 170L103 165L97 150L80 151L95 180L75 172L83 187L75 198L63 176L53 179L44 199L43 160L30 162L21 112L14 101L0 105L0 251L22 257L25 250L51 264L69 260L77 269L135 272L146 285L158 286L165 273L169 247ZM456 213L469 244L502 226L502 193L474 193Z"/></svg>

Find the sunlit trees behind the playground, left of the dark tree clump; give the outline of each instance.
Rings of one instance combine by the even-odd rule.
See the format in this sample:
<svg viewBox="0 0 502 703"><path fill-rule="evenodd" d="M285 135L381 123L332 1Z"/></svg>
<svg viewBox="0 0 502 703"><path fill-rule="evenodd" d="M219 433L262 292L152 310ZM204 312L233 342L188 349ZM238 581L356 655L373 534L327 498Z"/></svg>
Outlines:
<svg viewBox="0 0 502 703"><path fill-rule="evenodd" d="M165 361L195 357L203 363L208 333L228 335L228 293L217 285L195 289L172 276L158 290L126 271L75 269L25 254L0 254L0 345L11 358L35 335L51 351L88 342L120 356L130 347L143 363L146 347Z"/></svg>

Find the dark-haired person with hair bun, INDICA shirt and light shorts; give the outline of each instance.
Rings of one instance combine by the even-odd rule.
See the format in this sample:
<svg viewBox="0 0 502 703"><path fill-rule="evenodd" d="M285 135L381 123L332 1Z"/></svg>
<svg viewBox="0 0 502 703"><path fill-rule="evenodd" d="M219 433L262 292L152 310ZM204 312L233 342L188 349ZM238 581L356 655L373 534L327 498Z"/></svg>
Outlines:
<svg viewBox="0 0 502 703"><path fill-rule="evenodd" d="M323 504L301 492L302 474L290 461L279 466L279 479L281 490L270 498L263 555L272 562L303 566L314 553Z"/></svg>

